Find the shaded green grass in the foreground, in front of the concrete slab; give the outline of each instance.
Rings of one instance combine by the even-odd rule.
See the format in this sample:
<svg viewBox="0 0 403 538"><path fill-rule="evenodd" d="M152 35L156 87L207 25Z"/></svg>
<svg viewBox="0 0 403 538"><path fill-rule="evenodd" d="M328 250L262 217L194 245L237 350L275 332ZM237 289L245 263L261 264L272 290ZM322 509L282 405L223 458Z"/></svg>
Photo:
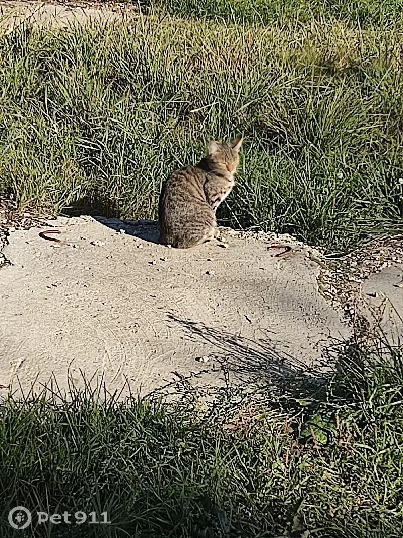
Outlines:
<svg viewBox="0 0 403 538"><path fill-rule="evenodd" d="M16 505L112 521L33 528L41 538L224 536L217 507L229 537L401 536L402 349L352 346L316 390L283 380L273 398L263 381L260 400L228 394L206 416L89 390L69 402L10 399L0 407L2 538L22 534L6 519ZM240 416L247 430L222 428Z"/></svg>

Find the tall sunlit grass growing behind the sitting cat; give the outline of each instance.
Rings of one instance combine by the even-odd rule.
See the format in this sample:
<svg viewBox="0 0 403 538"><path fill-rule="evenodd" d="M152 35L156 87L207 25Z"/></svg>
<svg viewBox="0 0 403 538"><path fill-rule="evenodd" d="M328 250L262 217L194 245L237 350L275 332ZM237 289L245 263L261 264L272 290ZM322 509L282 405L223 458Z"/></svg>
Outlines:
<svg viewBox="0 0 403 538"><path fill-rule="evenodd" d="M209 137L245 136L224 223L346 249L403 223L403 30L139 16L0 36L0 189L155 218Z"/></svg>

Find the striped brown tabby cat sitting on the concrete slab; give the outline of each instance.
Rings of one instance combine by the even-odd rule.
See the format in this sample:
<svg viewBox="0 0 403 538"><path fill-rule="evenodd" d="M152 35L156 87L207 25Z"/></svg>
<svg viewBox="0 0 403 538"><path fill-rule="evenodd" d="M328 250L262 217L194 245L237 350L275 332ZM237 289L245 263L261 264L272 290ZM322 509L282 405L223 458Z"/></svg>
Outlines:
<svg viewBox="0 0 403 538"><path fill-rule="evenodd" d="M208 143L197 166L185 166L165 182L159 201L160 243L188 249L215 237L215 212L234 187L242 136Z"/></svg>

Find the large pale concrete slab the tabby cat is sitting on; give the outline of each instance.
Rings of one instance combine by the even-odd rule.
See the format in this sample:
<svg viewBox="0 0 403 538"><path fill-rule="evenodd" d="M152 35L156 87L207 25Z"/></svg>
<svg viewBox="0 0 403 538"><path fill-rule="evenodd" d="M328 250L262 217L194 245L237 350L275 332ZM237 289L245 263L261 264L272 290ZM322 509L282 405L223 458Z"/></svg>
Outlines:
<svg viewBox="0 0 403 538"><path fill-rule="evenodd" d="M110 391L127 379L141 395L222 387L318 366L348 335L318 292L318 266L303 252L274 257L272 235L176 250L154 243L152 224L49 224L61 246L32 228L12 231L3 249L12 265L0 270L2 385L18 376L26 390L54 373L66 388L69 371L77 385L84 372Z"/></svg>

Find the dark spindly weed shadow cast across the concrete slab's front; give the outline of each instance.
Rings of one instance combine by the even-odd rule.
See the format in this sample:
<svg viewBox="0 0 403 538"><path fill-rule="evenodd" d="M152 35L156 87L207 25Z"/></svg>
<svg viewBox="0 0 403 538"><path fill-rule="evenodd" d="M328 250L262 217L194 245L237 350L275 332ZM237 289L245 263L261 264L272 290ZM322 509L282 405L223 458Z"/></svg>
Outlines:
<svg viewBox="0 0 403 538"><path fill-rule="evenodd" d="M334 365L343 346L343 343L334 341L323 352L320 364L309 366L284 352L284 343L271 338L269 331L264 331L265 334L262 332L264 336L261 338L251 339L201 322L183 320L174 314L168 314L168 319L181 325L189 341L195 344L202 341L212 346L214 352L210 357L224 373L226 388L219 390L218 387L211 387L211 391L217 389L221 394L226 391L242 392L242 387L254 385L263 389L268 396L313 397L326 386L334 373ZM187 382L206 371L202 367L198 374L191 374L189 379L182 378L180 383L174 381L172 387L165 385L152 394L173 389L175 385L175 392L183 392L186 396L189 390Z"/></svg>

